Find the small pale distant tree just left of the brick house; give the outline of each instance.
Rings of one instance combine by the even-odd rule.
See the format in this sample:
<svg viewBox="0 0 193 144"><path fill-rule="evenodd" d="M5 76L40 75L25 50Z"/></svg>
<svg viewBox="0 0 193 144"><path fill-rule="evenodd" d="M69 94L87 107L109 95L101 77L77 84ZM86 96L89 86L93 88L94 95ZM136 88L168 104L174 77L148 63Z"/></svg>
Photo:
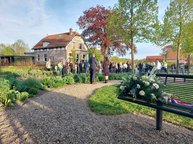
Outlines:
<svg viewBox="0 0 193 144"><path fill-rule="evenodd" d="M15 51L15 54L20 56L24 55L26 51L29 51L28 45L23 40L17 40L11 47Z"/></svg>

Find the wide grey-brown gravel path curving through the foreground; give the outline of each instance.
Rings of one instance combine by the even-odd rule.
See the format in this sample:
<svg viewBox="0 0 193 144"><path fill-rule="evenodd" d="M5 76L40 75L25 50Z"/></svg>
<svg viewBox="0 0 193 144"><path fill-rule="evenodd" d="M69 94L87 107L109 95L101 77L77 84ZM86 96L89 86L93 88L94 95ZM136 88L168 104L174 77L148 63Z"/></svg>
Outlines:
<svg viewBox="0 0 193 144"><path fill-rule="evenodd" d="M117 83L111 81L110 84ZM96 88L107 84L78 84L50 90L23 105L0 108L2 144L192 144L193 131L142 115L97 115L87 106Z"/></svg>

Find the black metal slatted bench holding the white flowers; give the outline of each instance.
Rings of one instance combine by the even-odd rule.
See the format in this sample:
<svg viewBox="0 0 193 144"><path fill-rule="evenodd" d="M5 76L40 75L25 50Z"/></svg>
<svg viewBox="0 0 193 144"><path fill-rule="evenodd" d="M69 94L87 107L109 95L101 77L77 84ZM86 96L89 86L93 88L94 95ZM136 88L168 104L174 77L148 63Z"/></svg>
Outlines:
<svg viewBox="0 0 193 144"><path fill-rule="evenodd" d="M180 101L193 104L193 75L157 74L156 76L166 84L166 92L172 93ZM193 106L191 107L175 103L148 103L129 96L119 96L118 98L156 109L156 130L162 129L163 111L193 118Z"/></svg>

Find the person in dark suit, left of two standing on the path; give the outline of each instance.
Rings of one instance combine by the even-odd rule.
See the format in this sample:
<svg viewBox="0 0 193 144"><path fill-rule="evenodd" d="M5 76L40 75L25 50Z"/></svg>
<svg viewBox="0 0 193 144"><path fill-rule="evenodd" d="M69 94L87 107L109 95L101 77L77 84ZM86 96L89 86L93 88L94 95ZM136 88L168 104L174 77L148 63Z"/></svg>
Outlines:
<svg viewBox="0 0 193 144"><path fill-rule="evenodd" d="M94 53L92 54L92 56L89 59L89 64L90 64L90 83L92 84L94 83L96 66L97 66L97 61L95 59Z"/></svg>

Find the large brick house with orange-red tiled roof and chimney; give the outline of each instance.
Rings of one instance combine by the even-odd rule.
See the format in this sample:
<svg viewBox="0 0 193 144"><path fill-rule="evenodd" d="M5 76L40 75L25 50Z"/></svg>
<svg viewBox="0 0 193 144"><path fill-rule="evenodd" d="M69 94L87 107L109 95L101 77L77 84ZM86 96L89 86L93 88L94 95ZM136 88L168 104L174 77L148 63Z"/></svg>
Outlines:
<svg viewBox="0 0 193 144"><path fill-rule="evenodd" d="M88 57L88 47L83 38L72 29L67 33L47 35L32 50L36 63L45 63L49 58L52 63L70 60L72 51L75 51L76 61L85 60Z"/></svg>

